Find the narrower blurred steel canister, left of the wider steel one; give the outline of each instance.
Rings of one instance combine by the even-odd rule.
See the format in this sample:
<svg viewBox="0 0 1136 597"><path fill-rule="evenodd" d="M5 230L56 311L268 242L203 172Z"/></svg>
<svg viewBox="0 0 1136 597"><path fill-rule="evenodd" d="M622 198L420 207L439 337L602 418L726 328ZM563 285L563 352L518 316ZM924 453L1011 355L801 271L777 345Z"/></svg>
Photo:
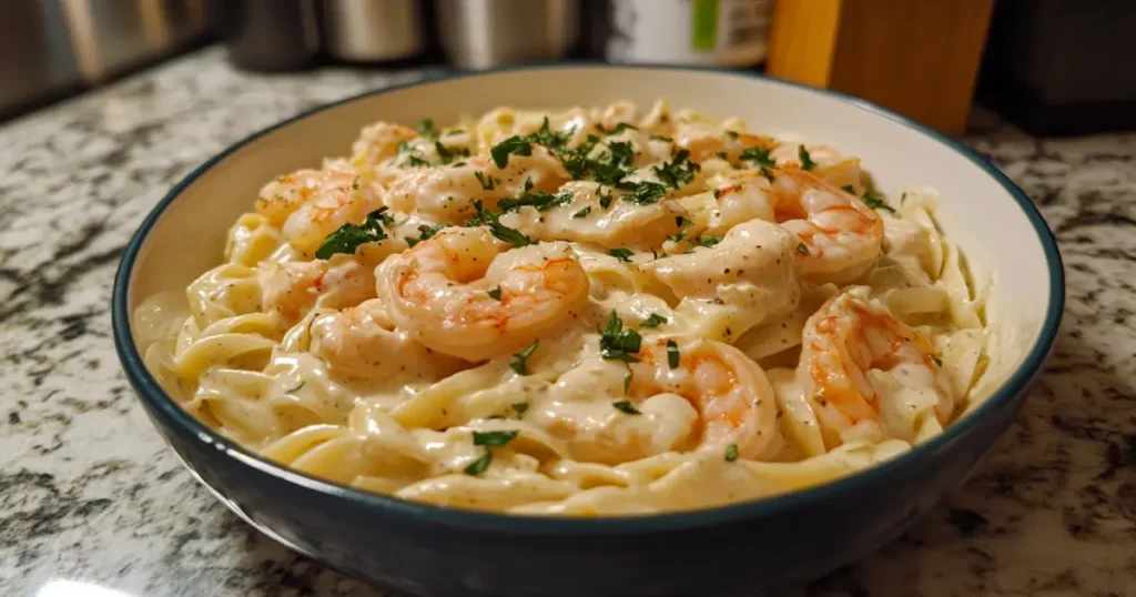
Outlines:
<svg viewBox="0 0 1136 597"><path fill-rule="evenodd" d="M342 60L410 58L425 48L416 0L324 0L324 50Z"/></svg>

